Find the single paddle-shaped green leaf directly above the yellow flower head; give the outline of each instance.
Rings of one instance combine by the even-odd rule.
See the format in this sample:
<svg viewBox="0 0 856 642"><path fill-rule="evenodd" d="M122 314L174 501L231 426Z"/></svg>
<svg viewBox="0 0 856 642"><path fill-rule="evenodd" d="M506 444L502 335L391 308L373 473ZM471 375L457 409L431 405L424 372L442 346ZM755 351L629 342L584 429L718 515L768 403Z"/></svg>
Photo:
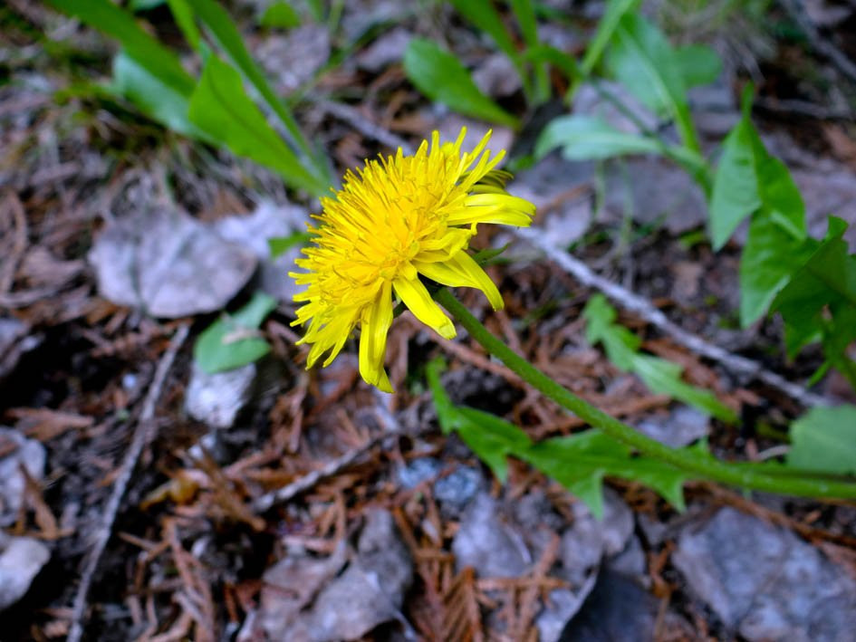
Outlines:
<svg viewBox="0 0 856 642"><path fill-rule="evenodd" d="M483 94L457 58L437 43L413 38L404 53L409 80L432 101L466 116L517 128L519 121Z"/></svg>

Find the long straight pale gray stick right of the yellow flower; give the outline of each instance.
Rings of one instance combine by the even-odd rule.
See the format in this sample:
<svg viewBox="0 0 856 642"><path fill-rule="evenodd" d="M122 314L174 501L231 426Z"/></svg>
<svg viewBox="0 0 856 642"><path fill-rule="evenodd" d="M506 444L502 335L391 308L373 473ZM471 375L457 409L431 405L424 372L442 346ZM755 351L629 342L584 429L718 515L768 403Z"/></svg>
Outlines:
<svg viewBox="0 0 856 642"><path fill-rule="evenodd" d="M572 276L580 283L587 287L600 290L612 301L618 303L627 311L638 314L642 319L648 321L651 325L659 328L660 331L666 332L672 339L678 341L681 345L689 350L700 354L702 357L712 359L721 363L727 369L733 372L745 375L747 377L755 377L759 381L764 382L770 388L775 388L783 392L790 398L799 402L803 407L813 406L829 406L830 400L806 390L802 386L788 381L781 375L777 375L770 370L765 369L757 361L746 359L740 355L733 354L728 350L720 348L709 341L698 337L697 335L680 328L678 324L669 321L668 317L655 308L648 300L640 297L638 294L630 292L618 283L612 283L609 279L604 279L602 276L592 272L588 265L582 261L575 259L571 254L563 252L559 248L553 247L543 240L543 236L538 230L520 228L515 230L515 234L534 244L539 250L547 255L551 261L559 264L563 270L571 273Z"/></svg>

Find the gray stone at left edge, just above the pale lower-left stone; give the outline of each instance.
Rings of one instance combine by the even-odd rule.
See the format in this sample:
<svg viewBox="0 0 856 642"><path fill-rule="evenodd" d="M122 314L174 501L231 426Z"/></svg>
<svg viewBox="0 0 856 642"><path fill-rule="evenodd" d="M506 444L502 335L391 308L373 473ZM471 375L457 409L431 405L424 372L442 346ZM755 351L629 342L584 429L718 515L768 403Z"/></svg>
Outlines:
<svg viewBox="0 0 856 642"><path fill-rule="evenodd" d="M9 452L0 458L0 527L17 519L24 505L26 482L21 466L36 482L44 477L44 446L27 439L14 428L0 427L0 451Z"/></svg>

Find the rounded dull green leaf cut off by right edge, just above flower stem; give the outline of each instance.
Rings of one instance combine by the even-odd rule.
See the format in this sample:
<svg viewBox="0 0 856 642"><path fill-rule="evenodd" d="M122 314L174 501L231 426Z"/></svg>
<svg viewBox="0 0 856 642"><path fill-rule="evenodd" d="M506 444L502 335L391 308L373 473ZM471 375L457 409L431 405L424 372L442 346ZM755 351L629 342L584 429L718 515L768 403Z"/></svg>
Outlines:
<svg viewBox="0 0 856 642"><path fill-rule="evenodd" d="M813 407L791 424L787 465L856 474L856 406Z"/></svg>

